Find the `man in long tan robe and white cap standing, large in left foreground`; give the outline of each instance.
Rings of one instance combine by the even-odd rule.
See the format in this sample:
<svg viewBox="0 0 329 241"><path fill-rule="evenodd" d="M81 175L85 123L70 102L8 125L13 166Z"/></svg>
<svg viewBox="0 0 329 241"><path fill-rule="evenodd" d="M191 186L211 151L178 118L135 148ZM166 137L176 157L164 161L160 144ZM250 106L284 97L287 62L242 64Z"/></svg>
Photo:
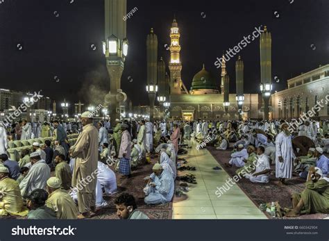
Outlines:
<svg viewBox="0 0 329 241"><path fill-rule="evenodd" d="M70 149L71 157L76 158L72 175L72 186L78 195L79 219L90 217L90 210L96 208L97 160L99 132L92 124L93 115L89 111L81 115L83 131L76 144Z"/></svg>

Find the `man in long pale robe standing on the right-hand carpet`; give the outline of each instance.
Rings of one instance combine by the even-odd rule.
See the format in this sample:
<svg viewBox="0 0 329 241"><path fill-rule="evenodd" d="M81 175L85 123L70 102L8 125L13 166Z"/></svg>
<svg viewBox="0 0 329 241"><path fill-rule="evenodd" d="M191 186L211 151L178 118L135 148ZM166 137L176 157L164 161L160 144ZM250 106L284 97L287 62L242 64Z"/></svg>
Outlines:
<svg viewBox="0 0 329 241"><path fill-rule="evenodd" d="M288 131L289 125L283 123L282 130L276 137L276 178L279 185L285 185L285 178L292 178L292 164L295 158L292 149L292 136Z"/></svg>

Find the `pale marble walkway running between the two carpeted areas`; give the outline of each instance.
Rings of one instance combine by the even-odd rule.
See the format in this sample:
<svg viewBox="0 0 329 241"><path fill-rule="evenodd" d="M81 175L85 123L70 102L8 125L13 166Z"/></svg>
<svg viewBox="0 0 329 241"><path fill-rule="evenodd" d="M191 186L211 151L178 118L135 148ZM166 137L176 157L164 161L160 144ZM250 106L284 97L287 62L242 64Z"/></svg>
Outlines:
<svg viewBox="0 0 329 241"><path fill-rule="evenodd" d="M180 157L188 161L187 165L196 167L196 171L188 173L196 176L197 184L189 184L186 200L176 201L174 197L173 219L267 219L236 184L217 197L217 187L230 176L223 169L212 169L219 164L208 150L188 150L187 155Z"/></svg>

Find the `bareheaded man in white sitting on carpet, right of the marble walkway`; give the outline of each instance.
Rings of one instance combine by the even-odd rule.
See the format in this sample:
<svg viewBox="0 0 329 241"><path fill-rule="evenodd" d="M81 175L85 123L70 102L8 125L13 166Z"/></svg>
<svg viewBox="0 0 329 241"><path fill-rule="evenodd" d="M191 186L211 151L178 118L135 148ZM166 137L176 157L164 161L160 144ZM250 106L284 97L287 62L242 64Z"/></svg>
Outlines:
<svg viewBox="0 0 329 241"><path fill-rule="evenodd" d="M264 154L264 147L260 146L257 149L257 163L255 165L256 170L253 174L246 174L252 183L269 183L269 174L271 172L271 167L269 165L269 157Z"/></svg>

